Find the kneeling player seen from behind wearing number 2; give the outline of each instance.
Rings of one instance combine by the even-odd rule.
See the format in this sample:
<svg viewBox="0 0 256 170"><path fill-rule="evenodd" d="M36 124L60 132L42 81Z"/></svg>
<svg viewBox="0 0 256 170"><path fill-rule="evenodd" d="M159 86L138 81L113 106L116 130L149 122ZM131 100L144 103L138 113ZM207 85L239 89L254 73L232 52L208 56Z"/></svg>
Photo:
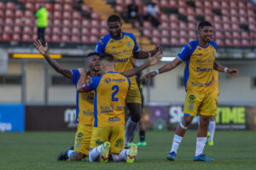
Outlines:
<svg viewBox="0 0 256 170"><path fill-rule="evenodd" d="M131 77L143 68L146 66L141 65L120 74L115 72L113 55L102 54L102 76L93 77L90 82L78 87L79 92L96 91L90 161L100 159L107 162L109 151L113 161L136 160L137 144L131 144L129 150L125 149L125 99L131 86L130 78L125 76Z"/></svg>

